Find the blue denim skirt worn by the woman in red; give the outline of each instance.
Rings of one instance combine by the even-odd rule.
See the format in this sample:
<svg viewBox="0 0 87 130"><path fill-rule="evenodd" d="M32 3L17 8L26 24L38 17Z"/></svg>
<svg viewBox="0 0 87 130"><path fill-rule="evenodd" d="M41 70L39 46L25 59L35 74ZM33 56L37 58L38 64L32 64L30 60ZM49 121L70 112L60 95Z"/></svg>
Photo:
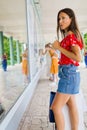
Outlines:
<svg viewBox="0 0 87 130"><path fill-rule="evenodd" d="M59 82L57 92L65 94L79 93L80 72L77 66L60 65L59 66Z"/></svg>

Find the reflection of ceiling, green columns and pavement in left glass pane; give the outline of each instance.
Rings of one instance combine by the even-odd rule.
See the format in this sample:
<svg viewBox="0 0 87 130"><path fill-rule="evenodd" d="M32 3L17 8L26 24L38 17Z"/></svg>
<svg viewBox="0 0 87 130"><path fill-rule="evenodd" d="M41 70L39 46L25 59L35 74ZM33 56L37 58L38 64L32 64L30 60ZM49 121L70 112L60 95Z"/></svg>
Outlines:
<svg viewBox="0 0 87 130"><path fill-rule="evenodd" d="M22 70L22 56L27 47L26 30L25 0L17 0L17 3L0 0L0 121L29 84L29 67L26 84ZM5 53L6 69L3 62ZM5 113L2 111L4 109Z"/></svg>

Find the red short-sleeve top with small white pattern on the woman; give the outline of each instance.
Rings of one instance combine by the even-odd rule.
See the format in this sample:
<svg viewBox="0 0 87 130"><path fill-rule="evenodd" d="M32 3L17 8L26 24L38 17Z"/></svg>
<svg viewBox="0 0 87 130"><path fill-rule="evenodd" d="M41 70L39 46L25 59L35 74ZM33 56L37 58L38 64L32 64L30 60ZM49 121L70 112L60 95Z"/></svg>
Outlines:
<svg viewBox="0 0 87 130"><path fill-rule="evenodd" d="M83 48L82 41L78 41L75 34L69 34L66 36L60 43L61 47L65 48L66 50L72 51L71 46L79 45L80 49ZM60 65L69 65L73 64L75 66L78 66L79 63L73 59L68 58L64 54L61 53L60 60L58 62Z"/></svg>

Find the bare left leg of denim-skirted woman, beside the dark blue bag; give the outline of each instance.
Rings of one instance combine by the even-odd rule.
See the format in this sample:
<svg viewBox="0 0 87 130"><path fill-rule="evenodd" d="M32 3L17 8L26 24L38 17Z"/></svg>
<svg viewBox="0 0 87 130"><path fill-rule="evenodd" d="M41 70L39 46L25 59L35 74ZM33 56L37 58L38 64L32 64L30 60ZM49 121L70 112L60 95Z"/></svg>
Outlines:
<svg viewBox="0 0 87 130"><path fill-rule="evenodd" d="M66 104L66 102L69 100L69 98L70 98L69 94L56 93L56 96L52 103L51 108L54 113L57 130L64 130L65 128L62 108Z"/></svg>

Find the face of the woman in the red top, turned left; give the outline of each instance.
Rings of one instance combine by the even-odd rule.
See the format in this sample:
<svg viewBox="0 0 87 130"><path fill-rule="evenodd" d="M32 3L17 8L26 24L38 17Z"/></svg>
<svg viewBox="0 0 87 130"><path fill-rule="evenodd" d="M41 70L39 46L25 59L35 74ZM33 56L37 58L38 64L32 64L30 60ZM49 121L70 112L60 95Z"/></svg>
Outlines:
<svg viewBox="0 0 87 130"><path fill-rule="evenodd" d="M61 30L67 30L71 24L71 18L64 12L59 14L59 26Z"/></svg>

